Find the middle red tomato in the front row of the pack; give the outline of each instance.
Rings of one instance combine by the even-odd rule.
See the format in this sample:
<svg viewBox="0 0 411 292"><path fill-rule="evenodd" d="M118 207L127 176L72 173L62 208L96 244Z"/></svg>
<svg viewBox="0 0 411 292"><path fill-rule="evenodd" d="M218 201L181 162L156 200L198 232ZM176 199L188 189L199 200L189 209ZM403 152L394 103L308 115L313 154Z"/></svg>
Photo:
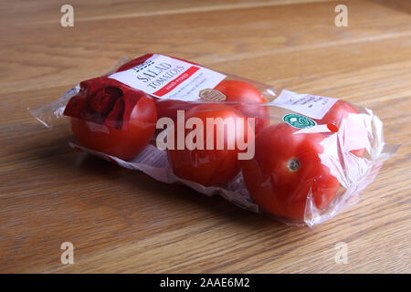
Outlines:
<svg viewBox="0 0 411 292"><path fill-rule="evenodd" d="M214 127L211 132L211 128L207 129L206 119L207 118L221 118L227 121L227 119L232 118L243 118L244 116L237 110L229 108L222 104L209 103L200 104L195 106L193 109L185 112L185 121L190 118L198 118L203 123L204 129L204 141L201 144L203 150L194 149L189 150L185 146L183 150L177 150L177 128L174 125L174 137L175 144L174 150L168 150L168 158L170 164L173 167L175 175L184 179L193 181L196 183L201 183L205 186L210 185L222 185L227 183L229 180L233 179L240 170L240 162L237 160L237 154L240 150L237 147L236 140L241 139L241 141L248 141L247 125L244 127L244 132L237 133L236 124L228 124L227 127ZM178 122L182 122L181 119ZM247 123L247 120L245 120ZM184 131L184 141L192 130ZM234 133L234 135L228 135L228 132ZM217 137L218 135L224 135L224 148L222 150L217 150ZM214 140L214 141L213 141ZM195 140L196 141L196 140ZM206 145L208 143L213 144L213 150L208 150ZM228 149L228 144L233 143L235 145L234 149Z"/></svg>

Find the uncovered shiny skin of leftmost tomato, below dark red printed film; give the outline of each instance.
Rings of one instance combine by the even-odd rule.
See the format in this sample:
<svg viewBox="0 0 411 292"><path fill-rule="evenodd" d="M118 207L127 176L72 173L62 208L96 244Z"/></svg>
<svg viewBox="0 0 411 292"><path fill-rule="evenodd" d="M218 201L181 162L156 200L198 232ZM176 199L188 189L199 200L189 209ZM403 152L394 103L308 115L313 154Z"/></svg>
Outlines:
<svg viewBox="0 0 411 292"><path fill-rule="evenodd" d="M153 99L142 97L132 110L126 130L78 118L70 118L70 124L81 145L128 161L136 157L152 140L156 120Z"/></svg>

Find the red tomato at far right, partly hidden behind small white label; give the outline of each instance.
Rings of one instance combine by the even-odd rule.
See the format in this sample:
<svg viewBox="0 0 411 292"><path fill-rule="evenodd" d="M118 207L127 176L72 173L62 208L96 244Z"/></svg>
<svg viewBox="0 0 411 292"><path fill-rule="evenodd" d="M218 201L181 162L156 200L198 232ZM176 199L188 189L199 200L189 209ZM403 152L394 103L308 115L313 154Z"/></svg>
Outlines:
<svg viewBox="0 0 411 292"><path fill-rule="evenodd" d="M348 102L345 102L340 99L334 103L332 108L325 114L325 116L321 120L317 121L320 124L331 124L340 128L342 120L347 119L350 113L358 114L360 112L357 109L355 109L352 105L350 105ZM358 125L358 127L362 126L364 125ZM358 137L357 139L367 139L367 137ZM363 157L365 148L352 150L350 152L352 152L354 155L358 157Z"/></svg>

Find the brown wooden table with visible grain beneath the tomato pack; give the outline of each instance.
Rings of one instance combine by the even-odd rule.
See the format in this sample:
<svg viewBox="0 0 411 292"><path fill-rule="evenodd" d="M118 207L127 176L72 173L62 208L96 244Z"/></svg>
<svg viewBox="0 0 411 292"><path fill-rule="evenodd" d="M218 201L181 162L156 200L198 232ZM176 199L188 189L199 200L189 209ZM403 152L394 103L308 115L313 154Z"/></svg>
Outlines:
<svg viewBox="0 0 411 292"><path fill-rule="evenodd" d="M66 1L0 4L0 272L411 272L409 2L68 3L73 27L60 26ZM348 99L402 146L360 203L311 231L73 151L26 110L145 52Z"/></svg>

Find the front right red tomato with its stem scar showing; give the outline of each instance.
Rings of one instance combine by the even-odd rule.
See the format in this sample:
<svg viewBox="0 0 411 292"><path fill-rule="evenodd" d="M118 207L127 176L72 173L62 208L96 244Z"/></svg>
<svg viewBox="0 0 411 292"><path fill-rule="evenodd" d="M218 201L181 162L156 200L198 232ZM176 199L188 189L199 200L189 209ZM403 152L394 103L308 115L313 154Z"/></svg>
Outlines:
<svg viewBox="0 0 411 292"><path fill-rule="evenodd" d="M303 219L308 194L323 209L337 193L339 182L321 163L324 136L296 131L287 124L262 130L256 138L254 159L242 164L248 192L262 209Z"/></svg>

